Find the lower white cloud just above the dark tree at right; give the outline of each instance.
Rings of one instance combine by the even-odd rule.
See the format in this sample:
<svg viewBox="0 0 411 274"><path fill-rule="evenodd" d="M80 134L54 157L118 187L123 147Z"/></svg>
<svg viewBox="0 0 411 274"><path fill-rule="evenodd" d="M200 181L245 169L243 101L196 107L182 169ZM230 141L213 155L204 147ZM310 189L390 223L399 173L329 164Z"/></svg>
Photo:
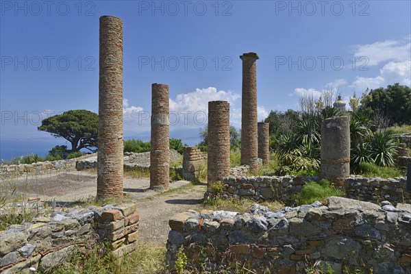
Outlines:
<svg viewBox="0 0 411 274"><path fill-rule="evenodd" d="M411 86L410 60L389 62L379 70L379 75L376 77L356 77L350 87L362 92L366 88L385 87L395 83Z"/></svg>

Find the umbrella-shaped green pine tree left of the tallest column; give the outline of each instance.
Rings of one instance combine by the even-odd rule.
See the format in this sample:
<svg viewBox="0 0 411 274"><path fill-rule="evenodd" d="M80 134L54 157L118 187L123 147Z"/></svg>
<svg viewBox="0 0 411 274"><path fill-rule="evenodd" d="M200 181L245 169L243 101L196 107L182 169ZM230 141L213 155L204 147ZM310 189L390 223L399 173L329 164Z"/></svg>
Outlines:
<svg viewBox="0 0 411 274"><path fill-rule="evenodd" d="M44 119L38 130L62 137L71 143L71 151L97 147L99 116L88 110L69 110Z"/></svg>

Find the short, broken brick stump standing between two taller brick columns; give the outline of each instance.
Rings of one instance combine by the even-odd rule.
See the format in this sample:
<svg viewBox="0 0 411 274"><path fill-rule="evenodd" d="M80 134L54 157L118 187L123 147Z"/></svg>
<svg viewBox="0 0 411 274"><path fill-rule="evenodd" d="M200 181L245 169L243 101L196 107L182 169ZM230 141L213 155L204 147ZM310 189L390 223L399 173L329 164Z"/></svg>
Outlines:
<svg viewBox="0 0 411 274"><path fill-rule="evenodd" d="M198 147L184 147L183 179L191 181L199 177L199 171L204 164L203 153Z"/></svg>

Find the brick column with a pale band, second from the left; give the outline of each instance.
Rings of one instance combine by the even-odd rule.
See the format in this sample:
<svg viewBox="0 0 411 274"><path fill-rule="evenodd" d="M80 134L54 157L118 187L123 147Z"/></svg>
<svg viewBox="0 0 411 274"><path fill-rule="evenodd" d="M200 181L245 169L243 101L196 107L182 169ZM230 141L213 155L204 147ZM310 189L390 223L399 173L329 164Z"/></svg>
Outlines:
<svg viewBox="0 0 411 274"><path fill-rule="evenodd" d="M151 85L150 188L164 190L170 182L169 86Z"/></svg>

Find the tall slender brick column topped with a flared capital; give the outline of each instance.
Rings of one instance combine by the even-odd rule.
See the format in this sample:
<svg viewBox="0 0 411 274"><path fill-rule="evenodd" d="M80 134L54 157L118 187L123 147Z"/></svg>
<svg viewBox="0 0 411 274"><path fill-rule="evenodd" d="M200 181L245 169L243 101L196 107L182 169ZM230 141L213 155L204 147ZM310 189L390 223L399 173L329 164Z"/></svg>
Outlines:
<svg viewBox="0 0 411 274"><path fill-rule="evenodd" d="M241 106L241 164L248 164L250 171L258 167L258 112L257 112L257 53L244 53L242 60Z"/></svg>

